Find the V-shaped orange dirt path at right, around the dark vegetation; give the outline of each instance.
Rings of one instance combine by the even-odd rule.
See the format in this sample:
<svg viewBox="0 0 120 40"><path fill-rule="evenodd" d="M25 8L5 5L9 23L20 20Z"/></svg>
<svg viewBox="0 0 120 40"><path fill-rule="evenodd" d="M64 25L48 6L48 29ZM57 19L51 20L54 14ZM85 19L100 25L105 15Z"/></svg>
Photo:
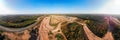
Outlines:
<svg viewBox="0 0 120 40"><path fill-rule="evenodd" d="M86 26L86 24L83 24L83 29L85 31L85 34L87 35L89 40L114 40L112 36L112 32L107 32L103 38L100 38L96 36L94 33L90 31L90 29Z"/></svg>

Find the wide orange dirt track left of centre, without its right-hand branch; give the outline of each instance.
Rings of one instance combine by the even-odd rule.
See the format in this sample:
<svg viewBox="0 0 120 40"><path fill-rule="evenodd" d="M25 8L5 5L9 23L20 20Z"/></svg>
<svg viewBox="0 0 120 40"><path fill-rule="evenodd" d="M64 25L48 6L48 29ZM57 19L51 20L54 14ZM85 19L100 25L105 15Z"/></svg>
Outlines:
<svg viewBox="0 0 120 40"><path fill-rule="evenodd" d="M49 40L49 36L48 36L48 32L53 29L50 25L49 25L49 22L50 22L50 18L49 17L45 17L40 26L39 26L39 32L38 32L38 35L39 35L39 39L38 40Z"/></svg>

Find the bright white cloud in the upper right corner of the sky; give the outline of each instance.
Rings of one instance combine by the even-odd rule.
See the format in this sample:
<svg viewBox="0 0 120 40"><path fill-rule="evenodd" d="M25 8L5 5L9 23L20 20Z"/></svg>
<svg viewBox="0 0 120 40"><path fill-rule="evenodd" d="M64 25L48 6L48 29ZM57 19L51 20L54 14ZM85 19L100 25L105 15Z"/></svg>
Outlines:
<svg viewBox="0 0 120 40"><path fill-rule="evenodd" d="M113 15L120 14L120 0L109 0L98 12Z"/></svg>

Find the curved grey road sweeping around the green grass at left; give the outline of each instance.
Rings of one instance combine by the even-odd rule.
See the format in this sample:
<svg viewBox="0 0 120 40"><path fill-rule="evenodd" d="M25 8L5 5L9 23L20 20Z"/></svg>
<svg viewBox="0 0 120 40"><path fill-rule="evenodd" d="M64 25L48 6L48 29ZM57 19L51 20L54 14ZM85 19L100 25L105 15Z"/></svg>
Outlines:
<svg viewBox="0 0 120 40"><path fill-rule="evenodd" d="M29 29L29 28L32 28L34 26L36 26L38 23L40 23L41 19L40 17L36 20L35 23L33 23L32 25L29 25L27 27L23 27L23 28L8 28L8 27L4 27L4 26L1 26L0 25L0 30L3 30L3 31L7 31L7 32L19 32L19 31L23 31L25 29Z"/></svg>

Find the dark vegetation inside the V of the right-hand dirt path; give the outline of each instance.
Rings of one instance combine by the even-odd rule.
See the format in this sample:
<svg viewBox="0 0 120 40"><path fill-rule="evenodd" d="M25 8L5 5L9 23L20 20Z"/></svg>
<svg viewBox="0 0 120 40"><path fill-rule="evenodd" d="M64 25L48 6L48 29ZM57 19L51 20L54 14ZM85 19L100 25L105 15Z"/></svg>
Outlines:
<svg viewBox="0 0 120 40"><path fill-rule="evenodd" d="M105 22L99 23L88 20L87 26L94 34L101 38L107 33L107 24Z"/></svg>

